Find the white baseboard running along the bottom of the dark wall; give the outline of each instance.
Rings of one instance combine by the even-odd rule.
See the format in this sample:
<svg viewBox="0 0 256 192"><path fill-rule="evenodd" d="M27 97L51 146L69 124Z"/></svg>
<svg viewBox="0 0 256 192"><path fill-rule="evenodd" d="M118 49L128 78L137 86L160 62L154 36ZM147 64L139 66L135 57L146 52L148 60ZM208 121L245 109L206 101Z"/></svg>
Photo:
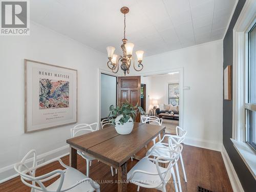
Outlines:
<svg viewBox="0 0 256 192"><path fill-rule="evenodd" d="M227 151L223 144L222 144L221 155L222 155L222 158L223 158L233 191L234 192L244 192L244 189L240 183L240 180L238 178L236 170L234 170L233 164L230 161Z"/></svg>

